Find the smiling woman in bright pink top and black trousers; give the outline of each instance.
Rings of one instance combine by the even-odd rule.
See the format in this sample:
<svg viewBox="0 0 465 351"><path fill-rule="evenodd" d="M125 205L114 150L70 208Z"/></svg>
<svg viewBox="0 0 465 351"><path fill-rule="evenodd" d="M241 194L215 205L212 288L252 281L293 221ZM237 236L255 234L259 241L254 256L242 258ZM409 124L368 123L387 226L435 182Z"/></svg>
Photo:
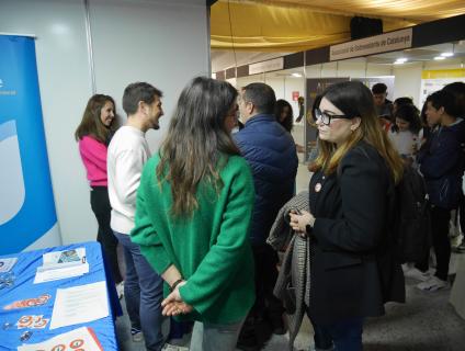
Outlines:
<svg viewBox="0 0 465 351"><path fill-rule="evenodd" d="M117 264L118 241L110 227L112 207L106 188L106 148L116 129L115 122L114 100L109 95L95 94L89 99L75 137L79 143L79 152L91 186L90 204L99 224L97 240L102 245L111 265L113 280L118 287L118 295L121 295L123 288L120 283L123 279Z"/></svg>

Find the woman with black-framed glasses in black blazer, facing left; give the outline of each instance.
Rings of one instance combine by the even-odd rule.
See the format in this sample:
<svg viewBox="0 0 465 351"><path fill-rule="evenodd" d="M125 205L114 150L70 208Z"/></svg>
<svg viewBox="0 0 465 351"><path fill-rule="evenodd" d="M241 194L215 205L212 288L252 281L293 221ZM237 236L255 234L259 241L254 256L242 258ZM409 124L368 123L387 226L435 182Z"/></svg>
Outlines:
<svg viewBox="0 0 465 351"><path fill-rule="evenodd" d="M305 302L317 350L362 350L363 320L405 301L389 237L394 186L402 161L379 126L368 88L329 87L316 110L319 155L309 184L310 212L291 226L310 240Z"/></svg>

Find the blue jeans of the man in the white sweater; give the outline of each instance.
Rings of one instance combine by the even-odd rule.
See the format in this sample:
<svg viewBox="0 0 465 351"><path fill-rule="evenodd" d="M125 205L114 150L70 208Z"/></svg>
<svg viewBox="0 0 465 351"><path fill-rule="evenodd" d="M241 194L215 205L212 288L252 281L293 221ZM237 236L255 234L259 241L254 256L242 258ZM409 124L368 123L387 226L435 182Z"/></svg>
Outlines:
<svg viewBox="0 0 465 351"><path fill-rule="evenodd" d="M131 326L144 332L147 350L159 351L165 343L161 333L163 282L128 235L117 231L114 235L123 246L126 263L124 298Z"/></svg>

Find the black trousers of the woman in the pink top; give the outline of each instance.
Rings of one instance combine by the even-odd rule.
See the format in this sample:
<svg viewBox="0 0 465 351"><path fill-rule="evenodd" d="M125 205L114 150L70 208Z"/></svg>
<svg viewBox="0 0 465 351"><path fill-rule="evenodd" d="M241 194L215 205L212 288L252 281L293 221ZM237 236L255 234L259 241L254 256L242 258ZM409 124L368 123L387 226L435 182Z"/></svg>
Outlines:
<svg viewBox="0 0 465 351"><path fill-rule="evenodd" d="M110 263L112 278L117 284L123 281L123 278L121 276L120 267L117 264L116 248L118 241L110 227L112 207L110 205L109 189L106 186L92 186L90 192L90 205L99 223L97 241L99 241L103 248L104 256Z"/></svg>

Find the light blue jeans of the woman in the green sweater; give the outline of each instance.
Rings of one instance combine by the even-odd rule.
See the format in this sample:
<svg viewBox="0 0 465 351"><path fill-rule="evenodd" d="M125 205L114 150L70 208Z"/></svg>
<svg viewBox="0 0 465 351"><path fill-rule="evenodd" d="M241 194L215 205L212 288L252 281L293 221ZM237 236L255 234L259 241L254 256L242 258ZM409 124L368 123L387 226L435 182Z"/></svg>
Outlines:
<svg viewBox="0 0 465 351"><path fill-rule="evenodd" d="M235 324L216 325L195 321L190 351L234 351L246 317Z"/></svg>

